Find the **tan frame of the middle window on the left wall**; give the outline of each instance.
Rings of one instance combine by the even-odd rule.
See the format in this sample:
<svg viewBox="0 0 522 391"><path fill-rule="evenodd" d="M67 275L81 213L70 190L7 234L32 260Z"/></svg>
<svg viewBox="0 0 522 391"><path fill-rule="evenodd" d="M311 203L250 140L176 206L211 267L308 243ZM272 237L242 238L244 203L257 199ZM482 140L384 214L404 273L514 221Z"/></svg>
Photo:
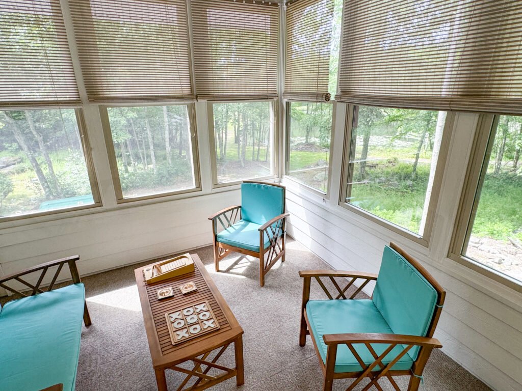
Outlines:
<svg viewBox="0 0 522 391"><path fill-rule="evenodd" d="M191 154L192 164L194 167L194 188L167 191L162 193L145 194L144 196L138 197L123 197L122 185L120 182L120 172L118 171L118 164L116 160L116 152L114 150L114 142L112 140L111 125L109 121L108 108L111 107L145 107L145 106L175 106L175 105L186 105L189 115L189 124L192 136L191 142ZM180 102L155 102L155 103L127 103L127 104L111 104L111 105L99 105L100 118L103 129L103 136L105 139L105 147L107 151L107 157L109 158L109 166L111 170L111 178L114 186L114 193L116 196L116 204L126 204L129 202L143 201L143 200L154 200L163 197L176 196L178 194L187 194L201 191L201 173L199 167L199 148L198 148L198 136L196 126L196 115L195 115L195 104L194 103L180 103ZM190 113L194 113L193 116Z"/></svg>

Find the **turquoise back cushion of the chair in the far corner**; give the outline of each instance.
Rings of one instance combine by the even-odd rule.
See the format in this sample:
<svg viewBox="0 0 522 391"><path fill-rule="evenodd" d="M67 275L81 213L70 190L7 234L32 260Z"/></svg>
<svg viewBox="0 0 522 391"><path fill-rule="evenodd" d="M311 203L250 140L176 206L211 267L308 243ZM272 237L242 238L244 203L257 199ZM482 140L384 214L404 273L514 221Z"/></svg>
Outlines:
<svg viewBox="0 0 522 391"><path fill-rule="evenodd" d="M265 224L284 213L284 189L262 184L241 184L241 218Z"/></svg>

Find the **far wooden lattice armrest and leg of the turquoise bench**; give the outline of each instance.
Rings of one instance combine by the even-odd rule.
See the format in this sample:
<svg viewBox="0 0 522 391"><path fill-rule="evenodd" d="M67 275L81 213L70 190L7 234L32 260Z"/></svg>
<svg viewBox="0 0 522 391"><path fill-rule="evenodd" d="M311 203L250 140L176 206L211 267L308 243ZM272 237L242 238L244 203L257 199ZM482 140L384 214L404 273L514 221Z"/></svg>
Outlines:
<svg viewBox="0 0 522 391"><path fill-rule="evenodd" d="M34 296L38 295L44 292L49 292L53 289L54 284L56 283L56 279L58 278L58 275L60 275L60 272L62 271L62 268L65 264L69 266L69 271L71 276L73 277L73 284L81 283L80 275L78 273L78 268L76 267L76 261L80 259L79 255L73 255L68 256L67 258L58 259L55 261L50 261L46 263L42 263L40 265L36 265L33 267L29 267L26 270L23 270L18 273L9 274L5 277L0 278L0 287L13 292L16 295L19 295L21 297L28 297L28 296ZM51 279L51 283L47 286L46 290L43 290L41 287L43 278L45 277L45 274L48 272L49 269L56 267L56 270L54 271L53 278ZM40 272L40 276L38 277L38 282L35 285L32 285L31 283L27 282L25 279L21 278L22 276ZM21 283L25 286L27 286L28 290L18 290L15 288L10 287L7 285L9 281L17 281L18 283ZM32 289L32 290L31 290ZM29 293L26 293L29 292ZM91 318L89 315L89 310L87 309L87 303L84 301L84 324L86 326L91 325Z"/></svg>

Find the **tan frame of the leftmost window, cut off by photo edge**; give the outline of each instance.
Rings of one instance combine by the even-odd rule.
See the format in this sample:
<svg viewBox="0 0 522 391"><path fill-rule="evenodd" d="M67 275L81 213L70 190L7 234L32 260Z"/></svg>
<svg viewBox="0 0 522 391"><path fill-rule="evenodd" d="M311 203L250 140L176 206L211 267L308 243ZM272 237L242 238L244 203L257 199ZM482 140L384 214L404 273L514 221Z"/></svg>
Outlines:
<svg viewBox="0 0 522 391"><path fill-rule="evenodd" d="M34 213L24 213L24 214L20 214L20 215L0 216L0 223L20 221L20 220L28 219L28 218L32 218L32 217L52 216L52 215L56 215L58 213L81 211L81 210L92 209L95 207L103 206L102 201L101 201L100 188L98 186L98 178L96 176L96 170L94 169L94 163L92 160L89 136L86 131L87 127L86 127L85 117L84 117L84 113L83 113L82 109L80 107L55 107L55 106L24 107L24 109L28 109L28 110L43 110L46 108L48 108L48 109L60 109L60 108L74 109L74 112L76 115L76 124L78 126L78 133L79 133L80 140L81 140L81 149L82 149L82 152L84 153L85 166L87 169L87 176L89 177L89 186L91 188L92 199L94 202L92 204L88 204L88 205L70 206L70 207L64 207L61 209L47 210L45 212L34 212Z"/></svg>

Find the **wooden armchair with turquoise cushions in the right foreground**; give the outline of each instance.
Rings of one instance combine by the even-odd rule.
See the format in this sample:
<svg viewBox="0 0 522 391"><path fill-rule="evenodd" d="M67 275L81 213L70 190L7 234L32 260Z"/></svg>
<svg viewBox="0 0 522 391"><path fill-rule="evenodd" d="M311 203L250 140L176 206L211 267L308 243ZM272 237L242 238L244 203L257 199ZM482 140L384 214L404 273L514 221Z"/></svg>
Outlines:
<svg viewBox="0 0 522 391"><path fill-rule="evenodd" d="M418 390L431 351L442 347L433 333L446 294L424 267L390 243L378 276L328 270L299 275L304 278L299 345L312 337L325 391L335 379L355 378L349 391L365 377L370 383L363 391L372 386L382 391L378 381L384 377L400 391L394 375L409 375L408 391ZM341 288L335 277L348 278L347 285ZM328 300L310 300L312 278ZM348 295L357 280L360 285ZM376 281L372 298L353 300L370 281Z"/></svg>

